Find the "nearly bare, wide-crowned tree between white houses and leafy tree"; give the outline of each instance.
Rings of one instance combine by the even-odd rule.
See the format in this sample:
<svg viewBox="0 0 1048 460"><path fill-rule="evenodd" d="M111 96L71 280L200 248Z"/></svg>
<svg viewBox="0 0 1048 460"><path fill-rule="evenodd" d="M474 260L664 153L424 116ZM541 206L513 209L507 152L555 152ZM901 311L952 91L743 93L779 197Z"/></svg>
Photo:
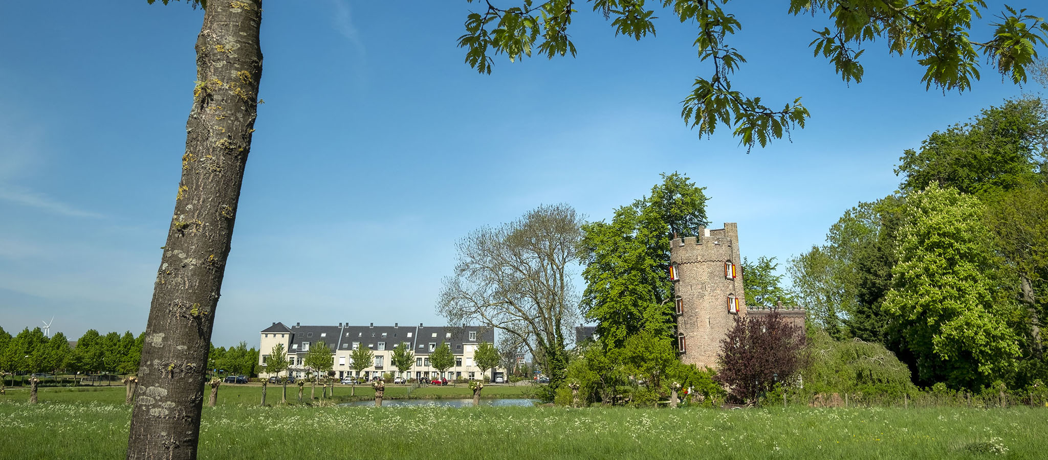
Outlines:
<svg viewBox="0 0 1048 460"><path fill-rule="evenodd" d="M570 205L553 204L474 231L456 244L455 276L443 280L437 311L451 324L481 323L519 338L555 387L567 367L564 336L578 319L571 278L582 221Z"/></svg>

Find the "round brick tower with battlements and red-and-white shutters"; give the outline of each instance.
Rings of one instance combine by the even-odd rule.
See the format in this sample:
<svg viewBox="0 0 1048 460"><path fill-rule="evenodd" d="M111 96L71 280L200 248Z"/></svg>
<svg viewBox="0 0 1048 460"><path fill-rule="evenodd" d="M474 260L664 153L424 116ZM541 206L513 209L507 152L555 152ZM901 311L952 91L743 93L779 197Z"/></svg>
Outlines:
<svg viewBox="0 0 1048 460"><path fill-rule="evenodd" d="M670 245L680 360L716 369L721 339L735 316L746 314L738 226L700 228Z"/></svg>

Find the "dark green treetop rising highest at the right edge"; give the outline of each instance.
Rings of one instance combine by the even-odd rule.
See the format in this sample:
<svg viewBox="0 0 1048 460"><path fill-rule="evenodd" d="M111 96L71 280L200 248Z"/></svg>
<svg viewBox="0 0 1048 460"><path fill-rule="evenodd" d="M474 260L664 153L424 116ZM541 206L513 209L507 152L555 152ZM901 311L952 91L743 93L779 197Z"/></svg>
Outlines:
<svg viewBox="0 0 1048 460"><path fill-rule="evenodd" d="M994 195L1039 176L1048 146L1048 107L1039 97L1005 101L971 123L932 133L920 150L907 150L895 173L903 191L935 182L961 193Z"/></svg>

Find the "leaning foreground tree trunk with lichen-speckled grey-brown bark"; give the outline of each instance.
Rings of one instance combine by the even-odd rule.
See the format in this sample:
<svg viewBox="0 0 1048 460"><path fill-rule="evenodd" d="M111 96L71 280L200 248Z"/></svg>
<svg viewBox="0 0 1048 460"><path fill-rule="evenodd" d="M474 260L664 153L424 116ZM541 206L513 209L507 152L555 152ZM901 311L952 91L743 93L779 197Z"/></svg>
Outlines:
<svg viewBox="0 0 1048 460"><path fill-rule="evenodd" d="M154 284L127 458L195 459L215 307L250 150L261 0L204 10L174 217Z"/></svg>

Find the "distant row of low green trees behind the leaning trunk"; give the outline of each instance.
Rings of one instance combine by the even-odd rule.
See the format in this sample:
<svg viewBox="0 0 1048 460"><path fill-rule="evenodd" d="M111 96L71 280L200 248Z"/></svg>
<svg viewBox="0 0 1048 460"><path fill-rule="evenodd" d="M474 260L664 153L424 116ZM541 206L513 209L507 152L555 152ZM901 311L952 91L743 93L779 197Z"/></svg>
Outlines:
<svg viewBox="0 0 1048 460"><path fill-rule="evenodd" d="M24 328L12 335L0 327L0 374L101 374L131 375L138 372L145 333L134 335L109 332L105 335L89 329L75 342L62 332L48 337L38 327ZM236 347L211 346L209 369L226 373L256 373L258 351L241 342Z"/></svg>

